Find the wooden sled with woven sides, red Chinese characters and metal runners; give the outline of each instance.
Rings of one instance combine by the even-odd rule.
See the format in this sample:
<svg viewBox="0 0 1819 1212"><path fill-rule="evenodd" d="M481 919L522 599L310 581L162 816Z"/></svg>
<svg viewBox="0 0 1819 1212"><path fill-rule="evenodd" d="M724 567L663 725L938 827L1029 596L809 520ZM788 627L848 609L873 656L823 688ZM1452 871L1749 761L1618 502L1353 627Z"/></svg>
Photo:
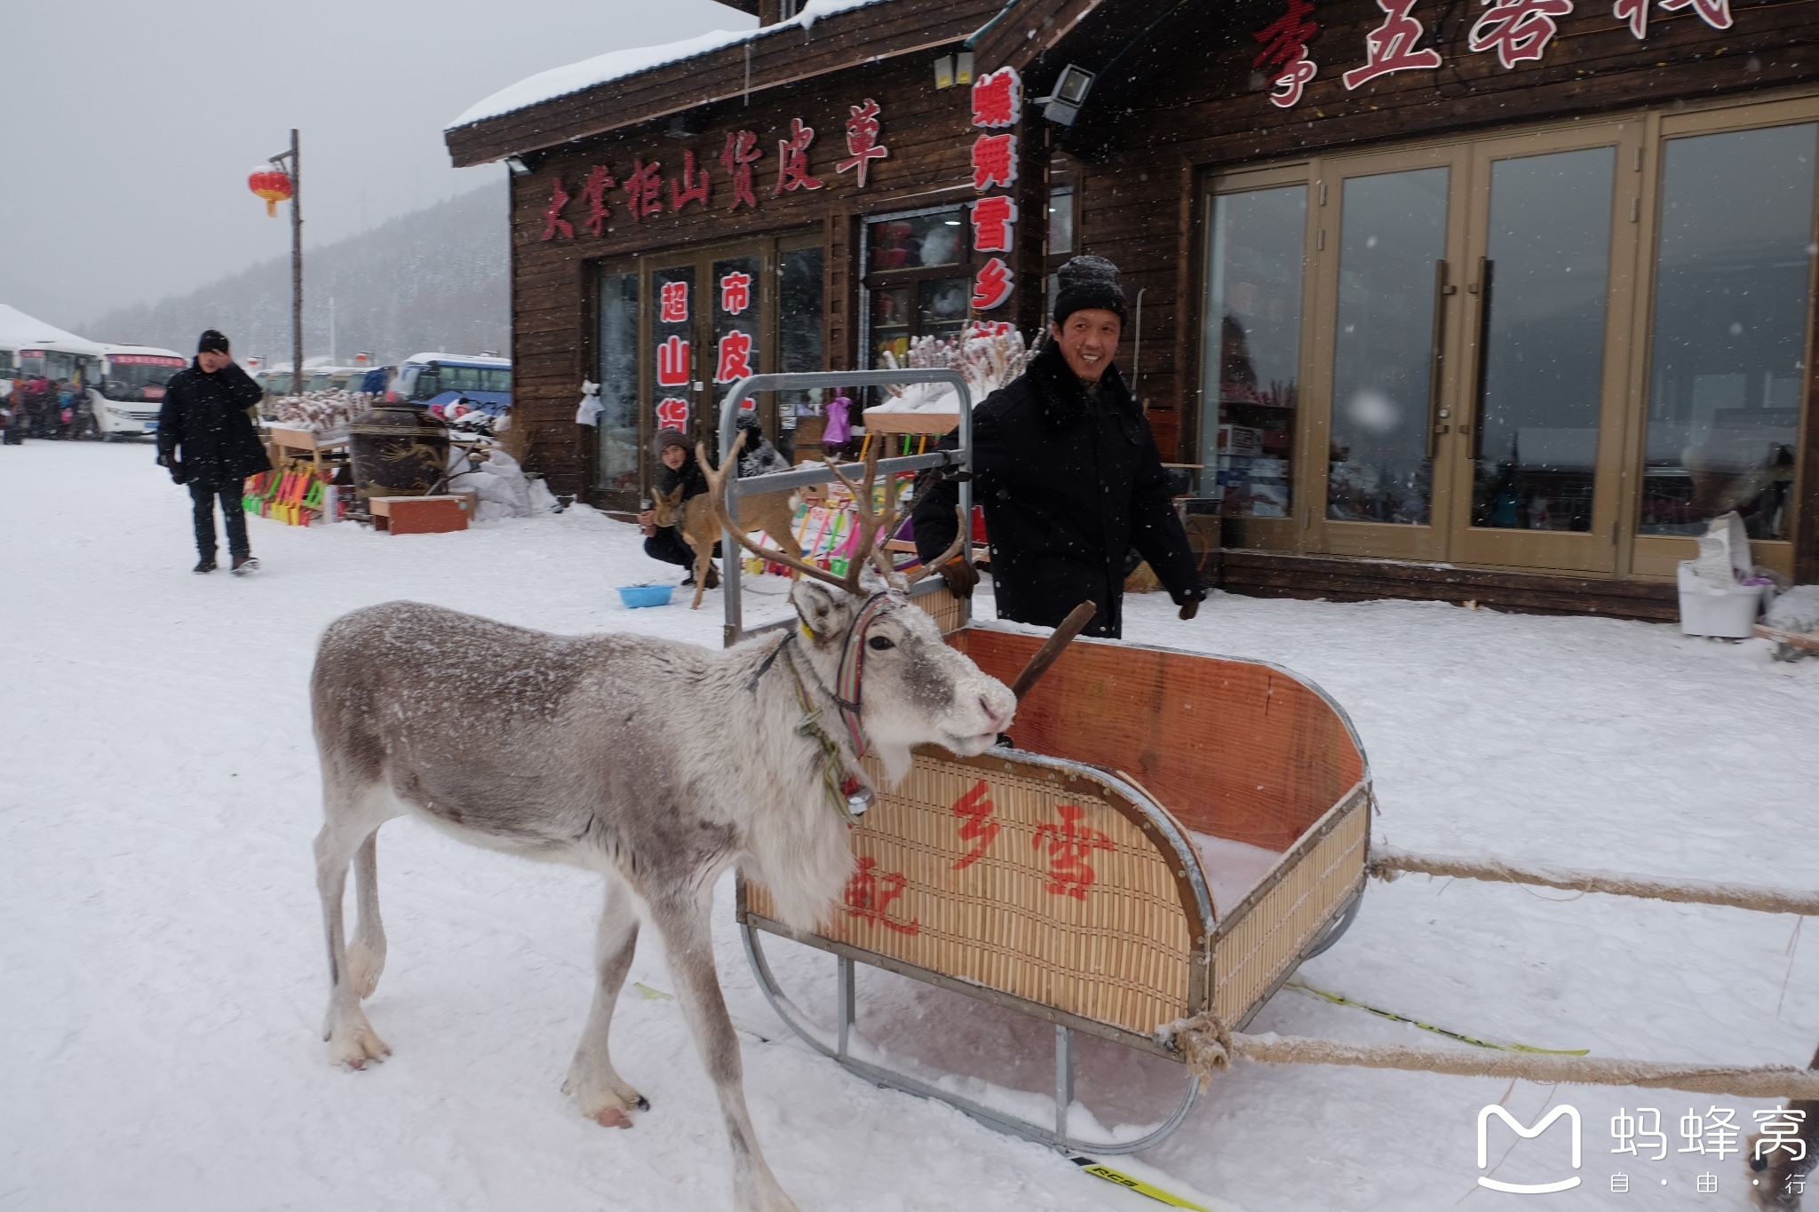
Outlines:
<svg viewBox="0 0 1819 1212"><path fill-rule="evenodd" d="M946 589L915 601L964 612ZM1006 683L1040 641L950 634ZM1184 1074L1181 1103L1139 1136L1079 1139L1075 1032L1179 1061L1157 1028L1208 1008L1242 1028L1332 947L1364 890L1364 750L1344 712L1281 667L1106 640L1064 651L1011 738L977 758L917 754L853 830L860 867L822 932L789 930L762 887L740 883L746 952L797 1036L869 1081L1059 1148L1148 1148L1186 1119L1195 1081ZM837 956L833 1032L779 987L766 934ZM857 963L1053 1023L1053 1121L855 1056Z"/></svg>

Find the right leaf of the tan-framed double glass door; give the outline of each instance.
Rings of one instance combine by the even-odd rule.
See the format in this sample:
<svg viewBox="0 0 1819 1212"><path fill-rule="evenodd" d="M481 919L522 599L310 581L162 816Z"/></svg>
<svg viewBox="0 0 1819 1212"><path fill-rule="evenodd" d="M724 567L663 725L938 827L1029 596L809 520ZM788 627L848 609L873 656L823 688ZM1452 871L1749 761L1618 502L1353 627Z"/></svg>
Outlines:
<svg viewBox="0 0 1819 1212"><path fill-rule="evenodd" d="M1617 167L1635 164L1639 136L1632 122L1570 147L1473 149L1459 374L1435 418L1459 485L1450 560L1615 569L1639 189L1632 167L1619 196Z"/></svg>

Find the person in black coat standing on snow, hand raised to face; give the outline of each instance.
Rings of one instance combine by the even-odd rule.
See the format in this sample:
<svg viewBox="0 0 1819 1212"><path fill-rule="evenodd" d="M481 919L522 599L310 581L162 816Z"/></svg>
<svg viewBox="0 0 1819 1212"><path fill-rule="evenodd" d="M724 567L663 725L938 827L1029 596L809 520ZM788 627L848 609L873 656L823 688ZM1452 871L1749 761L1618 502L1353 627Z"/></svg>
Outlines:
<svg viewBox="0 0 1819 1212"><path fill-rule="evenodd" d="M158 463L171 480L189 485L196 520L196 572L215 571L215 502L227 527L233 574L258 567L246 540L242 482L271 471L271 458L253 427L251 409L264 392L227 349L227 338L209 329L196 342L196 360L164 387L158 411Z"/></svg>

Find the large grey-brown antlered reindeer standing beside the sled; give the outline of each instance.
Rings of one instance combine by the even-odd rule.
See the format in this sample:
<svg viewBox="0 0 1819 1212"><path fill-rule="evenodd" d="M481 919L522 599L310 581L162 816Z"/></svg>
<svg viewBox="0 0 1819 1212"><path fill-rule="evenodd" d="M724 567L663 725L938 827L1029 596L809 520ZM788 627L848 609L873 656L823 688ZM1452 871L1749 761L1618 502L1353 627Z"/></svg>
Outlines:
<svg viewBox="0 0 1819 1212"><path fill-rule="evenodd" d="M329 625L311 707L331 985L324 1038L337 1065L360 1068L391 1052L360 1008L386 963L377 830L387 820L409 814L480 847L598 870L598 978L562 1088L602 1127L631 1127L631 1112L649 1108L608 1054L638 923L649 921L719 1094L735 1203L795 1212L746 1110L713 967L713 885L737 867L769 889L784 921L813 929L853 869L849 796L869 792L859 747L895 783L915 745L979 754L1015 712L1011 692L902 598L906 578L875 551L895 522L869 509L875 471L869 460L864 487L849 483L862 538L846 578L759 547L728 520L726 471L709 472L709 503L739 541L802 572L789 594L800 627L780 636L726 651L637 634L551 636L411 601ZM959 541L919 572L955 551ZM829 689L855 680L851 701ZM349 863L360 905L351 945Z"/></svg>

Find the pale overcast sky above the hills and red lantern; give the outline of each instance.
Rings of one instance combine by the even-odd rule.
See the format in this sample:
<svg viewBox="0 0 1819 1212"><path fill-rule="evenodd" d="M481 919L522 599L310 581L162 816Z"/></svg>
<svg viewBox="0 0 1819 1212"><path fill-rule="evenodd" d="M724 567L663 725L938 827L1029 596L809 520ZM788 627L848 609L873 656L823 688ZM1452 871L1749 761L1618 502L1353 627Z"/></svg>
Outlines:
<svg viewBox="0 0 1819 1212"><path fill-rule="evenodd" d="M0 303L82 331L289 253L247 173L304 140L304 247L482 185L442 127L546 67L757 22L713 0L5 5ZM500 185L502 187L502 185Z"/></svg>

